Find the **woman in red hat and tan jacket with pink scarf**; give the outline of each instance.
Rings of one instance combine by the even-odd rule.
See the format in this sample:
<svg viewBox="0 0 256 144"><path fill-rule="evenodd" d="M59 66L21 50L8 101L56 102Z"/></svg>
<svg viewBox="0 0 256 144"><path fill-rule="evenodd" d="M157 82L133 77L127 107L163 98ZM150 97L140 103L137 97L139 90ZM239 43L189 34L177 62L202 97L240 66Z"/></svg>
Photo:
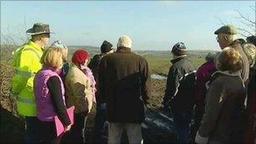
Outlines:
<svg viewBox="0 0 256 144"><path fill-rule="evenodd" d="M72 56L72 66L67 72L67 107L75 106L74 125L67 141L83 143L87 115L92 109L95 93L93 72L87 67L88 51L77 50ZM69 140L68 140L69 139Z"/></svg>

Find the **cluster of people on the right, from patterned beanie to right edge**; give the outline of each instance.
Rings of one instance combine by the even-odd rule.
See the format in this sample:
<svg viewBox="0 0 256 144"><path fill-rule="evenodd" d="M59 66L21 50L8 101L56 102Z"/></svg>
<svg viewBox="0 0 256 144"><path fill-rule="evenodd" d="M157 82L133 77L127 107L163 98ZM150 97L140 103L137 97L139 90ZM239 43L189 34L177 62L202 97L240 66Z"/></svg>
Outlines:
<svg viewBox="0 0 256 144"><path fill-rule="evenodd" d="M184 43L173 46L163 108L181 143L254 143L256 37L237 39L231 24L215 35L221 52L208 53L196 72Z"/></svg>

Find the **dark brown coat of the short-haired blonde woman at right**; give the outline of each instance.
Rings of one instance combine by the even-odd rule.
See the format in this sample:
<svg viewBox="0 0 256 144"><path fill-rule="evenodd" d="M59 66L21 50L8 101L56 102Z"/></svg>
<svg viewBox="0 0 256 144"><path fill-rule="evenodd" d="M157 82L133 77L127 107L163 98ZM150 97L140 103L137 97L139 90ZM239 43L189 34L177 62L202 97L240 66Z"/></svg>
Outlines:
<svg viewBox="0 0 256 144"><path fill-rule="evenodd" d="M206 94L205 114L195 141L201 137L201 140L205 139L205 142L209 143L230 143L237 128L237 115L243 109L245 98L243 80L240 72L230 74L227 71L217 71L213 77L215 79Z"/></svg>

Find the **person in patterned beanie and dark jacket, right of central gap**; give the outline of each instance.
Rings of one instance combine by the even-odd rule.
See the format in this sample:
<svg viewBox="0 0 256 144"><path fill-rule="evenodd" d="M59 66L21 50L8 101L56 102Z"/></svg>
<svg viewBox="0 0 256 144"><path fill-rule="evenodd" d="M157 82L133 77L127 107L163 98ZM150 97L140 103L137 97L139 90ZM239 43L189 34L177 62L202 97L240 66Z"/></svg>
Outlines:
<svg viewBox="0 0 256 144"><path fill-rule="evenodd" d="M195 67L186 55L186 46L183 42L173 45L173 63L168 72L164 109L172 110L173 121L181 143L189 142L189 123L193 109L193 87L195 83ZM187 88L188 85L189 88Z"/></svg>

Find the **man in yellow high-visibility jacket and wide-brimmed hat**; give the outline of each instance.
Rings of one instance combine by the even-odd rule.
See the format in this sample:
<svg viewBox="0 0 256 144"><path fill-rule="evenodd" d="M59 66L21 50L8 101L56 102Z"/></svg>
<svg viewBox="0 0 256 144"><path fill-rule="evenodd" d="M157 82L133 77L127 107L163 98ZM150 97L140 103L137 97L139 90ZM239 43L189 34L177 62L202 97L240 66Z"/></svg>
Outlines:
<svg viewBox="0 0 256 144"><path fill-rule="evenodd" d="M38 133L36 132L36 105L33 83L35 73L40 70L40 59L44 52L45 45L50 38L48 24L36 23L33 28L27 30L31 40L13 52L12 65L15 68L13 76L12 92L17 100L17 111L24 115L26 122L26 138L28 143L37 143Z"/></svg>

